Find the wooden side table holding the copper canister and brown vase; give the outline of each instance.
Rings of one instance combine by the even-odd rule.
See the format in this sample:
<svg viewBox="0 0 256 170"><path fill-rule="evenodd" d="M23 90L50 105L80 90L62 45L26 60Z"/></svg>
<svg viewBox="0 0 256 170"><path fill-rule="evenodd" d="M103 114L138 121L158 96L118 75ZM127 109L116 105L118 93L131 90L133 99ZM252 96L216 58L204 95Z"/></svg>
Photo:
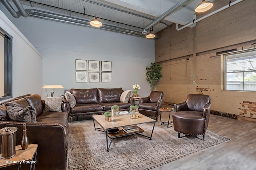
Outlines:
<svg viewBox="0 0 256 170"><path fill-rule="evenodd" d="M30 144L27 149L23 150L21 145L16 146L16 154L12 158L0 159L0 168L18 164L18 169L20 170L21 164L30 164L30 170L32 169L32 165L34 165L34 170L36 166L37 147L37 144Z"/></svg>

